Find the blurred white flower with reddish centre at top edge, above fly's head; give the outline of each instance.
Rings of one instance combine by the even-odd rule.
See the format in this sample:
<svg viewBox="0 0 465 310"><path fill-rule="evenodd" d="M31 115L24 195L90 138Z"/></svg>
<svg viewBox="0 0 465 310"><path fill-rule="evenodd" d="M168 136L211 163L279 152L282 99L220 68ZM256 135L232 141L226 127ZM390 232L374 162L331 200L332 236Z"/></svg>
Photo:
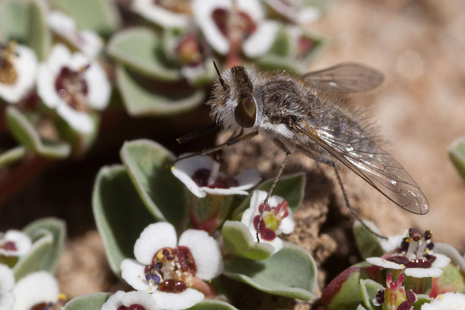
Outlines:
<svg viewBox="0 0 465 310"><path fill-rule="evenodd" d="M258 0L193 0L192 7L206 40L222 55L242 46L247 57L261 56L279 30L277 22L265 20Z"/></svg>

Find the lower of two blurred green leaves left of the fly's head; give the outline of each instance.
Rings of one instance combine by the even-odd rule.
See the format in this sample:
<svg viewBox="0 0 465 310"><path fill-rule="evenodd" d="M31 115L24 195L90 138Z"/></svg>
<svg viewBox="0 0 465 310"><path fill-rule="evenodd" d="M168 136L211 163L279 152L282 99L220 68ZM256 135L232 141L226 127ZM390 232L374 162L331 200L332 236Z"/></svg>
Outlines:
<svg viewBox="0 0 465 310"><path fill-rule="evenodd" d="M172 99L150 92L138 84L122 66L116 68L116 81L126 111L131 116L171 115L185 112L201 105L205 97L203 90L197 90L181 99Z"/></svg>

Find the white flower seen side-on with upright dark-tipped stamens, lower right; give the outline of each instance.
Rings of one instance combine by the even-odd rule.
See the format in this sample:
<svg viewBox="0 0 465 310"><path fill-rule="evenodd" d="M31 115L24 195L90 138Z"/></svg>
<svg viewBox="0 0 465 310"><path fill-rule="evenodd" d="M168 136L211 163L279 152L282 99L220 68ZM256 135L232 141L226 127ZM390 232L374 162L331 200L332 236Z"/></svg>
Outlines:
<svg viewBox="0 0 465 310"><path fill-rule="evenodd" d="M440 277L444 268L451 259L444 254L434 253L431 242L431 231L421 234L411 228L406 235L394 236L385 242L383 249L392 249L391 253L383 257L368 257L366 261L370 264L403 270L406 276L411 277ZM397 247L394 241L398 241Z"/></svg>

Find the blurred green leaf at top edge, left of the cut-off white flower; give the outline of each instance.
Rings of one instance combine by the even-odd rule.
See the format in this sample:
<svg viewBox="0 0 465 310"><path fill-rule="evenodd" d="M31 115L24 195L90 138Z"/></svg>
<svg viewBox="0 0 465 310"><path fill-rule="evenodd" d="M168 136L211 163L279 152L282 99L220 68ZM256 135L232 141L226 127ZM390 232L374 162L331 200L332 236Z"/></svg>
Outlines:
<svg viewBox="0 0 465 310"><path fill-rule="evenodd" d="M113 1L107 0L49 0L76 21L79 30L93 30L109 37L119 26L120 16Z"/></svg>

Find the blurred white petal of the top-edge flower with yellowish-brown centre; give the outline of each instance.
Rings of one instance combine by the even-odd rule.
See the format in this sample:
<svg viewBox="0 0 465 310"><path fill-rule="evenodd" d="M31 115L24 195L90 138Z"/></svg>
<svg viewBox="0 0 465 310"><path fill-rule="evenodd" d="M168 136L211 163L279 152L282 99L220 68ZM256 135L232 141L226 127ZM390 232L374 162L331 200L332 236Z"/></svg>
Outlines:
<svg viewBox="0 0 465 310"><path fill-rule="evenodd" d="M163 7L153 5L153 0L134 0L132 10L163 27L184 28L189 25L187 15L174 13Z"/></svg>

